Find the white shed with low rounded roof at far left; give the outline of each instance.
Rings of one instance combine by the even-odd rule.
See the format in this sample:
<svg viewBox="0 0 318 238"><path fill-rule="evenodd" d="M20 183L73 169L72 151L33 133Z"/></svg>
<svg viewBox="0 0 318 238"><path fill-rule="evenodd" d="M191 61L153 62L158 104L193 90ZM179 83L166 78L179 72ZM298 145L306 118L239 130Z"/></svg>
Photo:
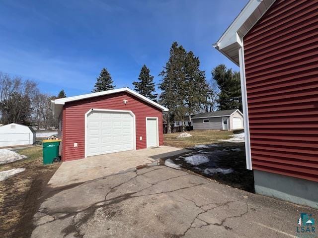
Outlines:
<svg viewBox="0 0 318 238"><path fill-rule="evenodd" d="M16 123L0 126L0 147L34 143L35 131L31 127Z"/></svg>

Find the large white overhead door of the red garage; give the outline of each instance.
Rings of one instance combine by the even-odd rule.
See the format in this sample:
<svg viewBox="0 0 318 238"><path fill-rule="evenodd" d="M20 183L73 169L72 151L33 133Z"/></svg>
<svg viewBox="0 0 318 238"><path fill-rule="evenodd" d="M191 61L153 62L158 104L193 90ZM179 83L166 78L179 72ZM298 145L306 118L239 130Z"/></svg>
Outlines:
<svg viewBox="0 0 318 238"><path fill-rule="evenodd" d="M87 156L134 149L134 124L129 113L87 115Z"/></svg>

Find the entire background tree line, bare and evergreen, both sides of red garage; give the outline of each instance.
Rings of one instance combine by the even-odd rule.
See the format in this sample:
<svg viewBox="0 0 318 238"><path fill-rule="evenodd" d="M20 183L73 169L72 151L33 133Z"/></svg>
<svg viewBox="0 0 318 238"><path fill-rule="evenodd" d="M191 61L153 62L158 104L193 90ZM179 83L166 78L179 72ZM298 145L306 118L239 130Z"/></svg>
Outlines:
<svg viewBox="0 0 318 238"><path fill-rule="evenodd" d="M190 115L215 110L240 109L241 92L239 72L228 69L224 64L215 67L212 78L206 79L205 71L200 69L200 60L192 51L186 51L173 42L169 59L159 73L162 80L156 92L154 76L144 64L138 80L133 82L134 90L143 96L158 101L169 109L164 115L168 133L173 121L185 120ZM114 81L106 68L96 78L92 92L114 89ZM61 90L58 96L49 96L39 91L35 82L10 77L0 72L0 122L22 123L50 128L57 127L52 117L51 100L64 98Z"/></svg>

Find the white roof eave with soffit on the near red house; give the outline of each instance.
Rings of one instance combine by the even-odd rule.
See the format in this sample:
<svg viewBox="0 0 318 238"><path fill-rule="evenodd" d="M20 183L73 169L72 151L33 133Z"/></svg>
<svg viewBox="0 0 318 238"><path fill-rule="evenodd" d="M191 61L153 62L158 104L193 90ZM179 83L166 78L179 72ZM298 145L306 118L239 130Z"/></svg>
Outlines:
<svg viewBox="0 0 318 238"><path fill-rule="evenodd" d="M274 2L275 0L249 0L213 47L239 65L239 48L243 46L243 37Z"/></svg>

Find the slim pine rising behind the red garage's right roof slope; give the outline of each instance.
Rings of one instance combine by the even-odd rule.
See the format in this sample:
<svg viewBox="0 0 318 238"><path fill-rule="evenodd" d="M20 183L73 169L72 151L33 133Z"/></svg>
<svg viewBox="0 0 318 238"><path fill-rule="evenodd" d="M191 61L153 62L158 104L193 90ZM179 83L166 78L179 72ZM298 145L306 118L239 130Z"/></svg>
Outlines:
<svg viewBox="0 0 318 238"><path fill-rule="evenodd" d="M133 82L135 85L135 91L140 93L141 95L157 102L157 95L154 92L155 90L155 83L154 83L154 76L150 75L150 69L147 68L147 66L144 64L144 66L141 68L138 82Z"/></svg>

